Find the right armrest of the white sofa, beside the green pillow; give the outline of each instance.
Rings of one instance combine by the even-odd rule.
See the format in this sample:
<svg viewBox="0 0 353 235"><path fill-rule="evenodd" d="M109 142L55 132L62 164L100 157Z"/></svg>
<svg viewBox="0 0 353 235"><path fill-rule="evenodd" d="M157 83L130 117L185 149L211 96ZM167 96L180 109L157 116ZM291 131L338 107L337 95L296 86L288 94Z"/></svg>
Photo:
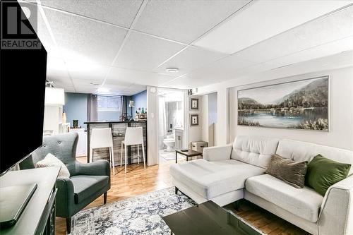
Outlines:
<svg viewBox="0 0 353 235"><path fill-rule="evenodd" d="M353 234L353 176L328 188L318 217L318 234Z"/></svg>

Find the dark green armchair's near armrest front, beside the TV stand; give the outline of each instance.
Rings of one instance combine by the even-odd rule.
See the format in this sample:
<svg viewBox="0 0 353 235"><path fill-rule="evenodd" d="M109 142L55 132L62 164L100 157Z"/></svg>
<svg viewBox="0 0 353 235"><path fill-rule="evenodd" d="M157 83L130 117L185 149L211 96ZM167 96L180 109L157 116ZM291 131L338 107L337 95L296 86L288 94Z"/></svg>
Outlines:
<svg viewBox="0 0 353 235"><path fill-rule="evenodd" d="M75 204L71 179L59 177L56 179L56 188L58 188L56 193L56 216L71 217Z"/></svg>

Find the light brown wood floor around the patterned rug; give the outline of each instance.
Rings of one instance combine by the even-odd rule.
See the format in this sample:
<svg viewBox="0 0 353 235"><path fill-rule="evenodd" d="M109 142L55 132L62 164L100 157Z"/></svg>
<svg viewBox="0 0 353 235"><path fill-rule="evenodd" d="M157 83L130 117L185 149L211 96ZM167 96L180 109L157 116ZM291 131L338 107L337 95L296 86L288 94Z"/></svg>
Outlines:
<svg viewBox="0 0 353 235"><path fill-rule="evenodd" d="M78 160L85 162L85 157ZM180 162L183 160L181 159ZM179 159L178 159L179 162ZM128 172L124 173L124 167L116 167L115 176L112 175L112 186L108 191L107 203L113 203L116 200L132 198L136 195L142 195L162 188L172 186L172 177L169 174L169 167L175 164L174 161L162 162L160 165L146 167L143 164L132 164L128 166ZM85 209L103 205L103 196L97 198L90 203ZM228 205L231 207L231 205ZM84 210L85 210L84 209ZM270 235L306 235L306 231L295 227L293 224L286 222L261 207L253 205L244 200L241 202L239 212L235 211L254 227L257 227L265 234ZM66 234L65 219L56 217L56 234Z"/></svg>

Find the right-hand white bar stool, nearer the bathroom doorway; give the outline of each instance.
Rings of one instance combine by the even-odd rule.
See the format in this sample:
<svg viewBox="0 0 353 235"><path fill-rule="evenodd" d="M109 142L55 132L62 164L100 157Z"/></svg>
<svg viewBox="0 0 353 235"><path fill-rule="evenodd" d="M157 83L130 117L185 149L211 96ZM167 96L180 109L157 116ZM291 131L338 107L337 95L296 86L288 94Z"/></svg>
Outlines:
<svg viewBox="0 0 353 235"><path fill-rule="evenodd" d="M126 163L127 163L127 150L128 145L137 145L137 156L138 164L140 164L140 145L142 145L142 155L143 155L143 167L146 169L145 162L145 145L143 145L143 130L142 126L139 127L127 127L125 133L125 140L121 141L121 156L120 156L120 167L123 162L123 147L125 145L125 173L126 173Z"/></svg>

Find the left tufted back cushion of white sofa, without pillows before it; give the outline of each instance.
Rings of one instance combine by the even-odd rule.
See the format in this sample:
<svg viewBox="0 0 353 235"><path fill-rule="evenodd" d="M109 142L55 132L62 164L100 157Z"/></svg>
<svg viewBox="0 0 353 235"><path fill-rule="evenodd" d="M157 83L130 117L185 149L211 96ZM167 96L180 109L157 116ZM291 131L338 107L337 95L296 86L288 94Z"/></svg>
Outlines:
<svg viewBox="0 0 353 235"><path fill-rule="evenodd" d="M265 169L279 141L277 138L239 135L234 140L231 158Z"/></svg>

